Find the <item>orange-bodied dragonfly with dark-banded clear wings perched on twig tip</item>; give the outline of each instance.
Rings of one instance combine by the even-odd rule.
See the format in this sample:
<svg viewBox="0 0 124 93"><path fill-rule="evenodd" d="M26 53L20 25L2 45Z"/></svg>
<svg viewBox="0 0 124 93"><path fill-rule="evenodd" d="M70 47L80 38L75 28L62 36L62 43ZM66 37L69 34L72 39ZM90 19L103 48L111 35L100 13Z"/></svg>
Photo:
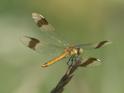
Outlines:
<svg viewBox="0 0 124 93"><path fill-rule="evenodd" d="M55 54L58 50L61 52L51 60L45 62L41 67L48 67L64 58L68 58L67 64L72 65L77 60L81 60L81 55L85 49L99 49L110 43L108 40L100 41L98 43L86 43L86 44L75 44L72 45L69 42L59 39L59 36L55 32L55 28L47 21L47 19L40 13L32 13L32 19L39 27L38 37L25 35L22 42L30 49L39 52L41 55L46 54L49 51ZM92 58L89 58L92 59ZM95 58L95 61L100 61Z"/></svg>

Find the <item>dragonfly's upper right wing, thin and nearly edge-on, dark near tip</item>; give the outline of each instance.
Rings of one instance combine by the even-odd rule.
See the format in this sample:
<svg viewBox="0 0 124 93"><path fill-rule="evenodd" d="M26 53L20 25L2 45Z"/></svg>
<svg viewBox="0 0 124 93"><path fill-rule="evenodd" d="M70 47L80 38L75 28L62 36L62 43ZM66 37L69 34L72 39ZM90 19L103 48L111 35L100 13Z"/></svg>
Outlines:
<svg viewBox="0 0 124 93"><path fill-rule="evenodd" d="M104 41L101 41L101 42L98 42L98 43L78 44L75 47L79 47L79 48L83 48L83 49L98 49L98 48L106 46L110 43L111 43L111 41L104 40Z"/></svg>

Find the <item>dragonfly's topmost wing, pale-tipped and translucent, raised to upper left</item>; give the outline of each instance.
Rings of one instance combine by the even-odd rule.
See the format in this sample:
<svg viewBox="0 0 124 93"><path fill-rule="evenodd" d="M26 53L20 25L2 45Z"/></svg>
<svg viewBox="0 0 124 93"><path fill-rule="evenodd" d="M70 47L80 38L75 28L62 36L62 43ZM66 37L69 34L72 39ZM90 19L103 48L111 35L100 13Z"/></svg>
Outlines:
<svg viewBox="0 0 124 93"><path fill-rule="evenodd" d="M47 34L47 38L49 38L50 40L54 40L54 42L58 43L57 45L60 46L69 45L67 41L64 41L60 39L60 37L58 37L58 35L54 31L54 27L49 24L49 22L43 15L39 13L32 13L32 18L36 25L41 29L41 32Z"/></svg>

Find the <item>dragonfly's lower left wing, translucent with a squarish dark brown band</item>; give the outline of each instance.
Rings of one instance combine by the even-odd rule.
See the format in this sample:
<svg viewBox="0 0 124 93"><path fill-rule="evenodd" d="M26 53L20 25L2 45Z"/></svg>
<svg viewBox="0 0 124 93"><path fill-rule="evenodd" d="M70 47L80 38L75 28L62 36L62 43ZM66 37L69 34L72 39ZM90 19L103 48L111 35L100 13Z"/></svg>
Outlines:
<svg viewBox="0 0 124 93"><path fill-rule="evenodd" d="M52 45L51 43L45 42L39 38L24 36L23 38L21 38L21 41L28 48L38 52L39 54L64 51L64 47L59 47L54 44Z"/></svg>

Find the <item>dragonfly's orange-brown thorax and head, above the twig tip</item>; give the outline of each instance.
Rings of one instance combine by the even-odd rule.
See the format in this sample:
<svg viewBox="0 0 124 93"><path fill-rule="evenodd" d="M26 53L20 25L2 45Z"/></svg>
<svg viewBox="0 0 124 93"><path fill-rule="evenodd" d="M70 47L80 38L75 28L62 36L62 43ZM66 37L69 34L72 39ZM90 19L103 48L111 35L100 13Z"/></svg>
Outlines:
<svg viewBox="0 0 124 93"><path fill-rule="evenodd" d="M67 52L69 55L80 55L83 52L83 49L76 47L68 47L65 49L65 52Z"/></svg>

